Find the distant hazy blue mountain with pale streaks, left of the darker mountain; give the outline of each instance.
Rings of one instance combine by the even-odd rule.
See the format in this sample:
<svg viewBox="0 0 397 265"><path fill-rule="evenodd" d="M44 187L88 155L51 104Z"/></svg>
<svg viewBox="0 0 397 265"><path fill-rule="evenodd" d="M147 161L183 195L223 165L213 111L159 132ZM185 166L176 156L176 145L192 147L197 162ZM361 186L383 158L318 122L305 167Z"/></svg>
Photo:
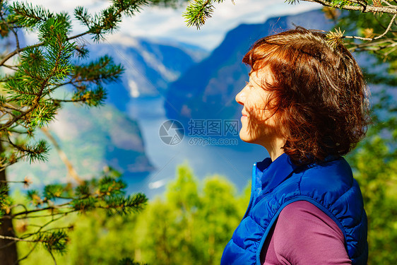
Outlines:
<svg viewBox="0 0 397 265"><path fill-rule="evenodd" d="M206 50L179 42L119 36L115 41L88 45L90 57L108 54L125 68L119 83L107 85L107 101L125 112L131 98L165 95L168 85L208 55Z"/></svg>

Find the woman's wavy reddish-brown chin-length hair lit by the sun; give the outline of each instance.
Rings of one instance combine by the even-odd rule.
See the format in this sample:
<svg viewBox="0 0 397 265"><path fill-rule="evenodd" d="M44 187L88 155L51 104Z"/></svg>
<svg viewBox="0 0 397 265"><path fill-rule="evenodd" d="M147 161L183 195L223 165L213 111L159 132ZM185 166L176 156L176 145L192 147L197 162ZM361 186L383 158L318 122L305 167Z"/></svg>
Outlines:
<svg viewBox="0 0 397 265"><path fill-rule="evenodd" d="M326 34L296 28L263 37L242 60L258 71L271 70L271 92L286 139L283 150L293 163L324 161L345 155L365 136L369 122L368 90L360 67L341 43Z"/></svg>

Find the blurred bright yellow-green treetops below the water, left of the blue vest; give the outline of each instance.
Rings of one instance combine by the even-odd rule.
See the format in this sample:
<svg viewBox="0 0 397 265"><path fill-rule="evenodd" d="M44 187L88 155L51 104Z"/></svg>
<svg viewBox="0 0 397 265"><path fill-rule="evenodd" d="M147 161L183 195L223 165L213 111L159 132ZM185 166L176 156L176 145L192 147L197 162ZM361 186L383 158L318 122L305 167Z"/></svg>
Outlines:
<svg viewBox="0 0 397 265"><path fill-rule="evenodd" d="M57 264L219 264L248 201L249 187L237 195L223 177L198 182L182 165L164 196L149 201L139 214L107 216L96 210L68 216L68 223L76 226L70 232L68 255L57 257ZM21 252L28 251L20 246ZM23 264L35 264L43 256L33 253Z"/></svg>

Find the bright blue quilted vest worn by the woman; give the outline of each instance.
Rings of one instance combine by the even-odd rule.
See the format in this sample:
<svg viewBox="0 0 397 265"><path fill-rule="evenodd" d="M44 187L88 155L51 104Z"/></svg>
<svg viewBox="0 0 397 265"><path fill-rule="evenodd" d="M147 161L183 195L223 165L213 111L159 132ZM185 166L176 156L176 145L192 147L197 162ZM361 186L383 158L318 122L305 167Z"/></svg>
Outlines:
<svg viewBox="0 0 397 265"><path fill-rule="evenodd" d="M285 153L274 162L254 164L251 200L241 223L227 243L221 265L261 264L263 243L280 211L294 201L309 201L326 213L343 232L352 264L368 259L367 215L360 187L344 158L294 165Z"/></svg>

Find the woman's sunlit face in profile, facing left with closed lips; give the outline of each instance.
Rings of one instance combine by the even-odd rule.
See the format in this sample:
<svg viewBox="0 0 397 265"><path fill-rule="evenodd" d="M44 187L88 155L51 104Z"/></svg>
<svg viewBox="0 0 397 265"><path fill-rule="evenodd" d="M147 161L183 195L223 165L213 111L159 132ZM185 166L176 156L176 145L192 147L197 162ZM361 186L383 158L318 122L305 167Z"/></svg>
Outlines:
<svg viewBox="0 0 397 265"><path fill-rule="evenodd" d="M236 95L236 101L244 106L240 138L242 141L257 143L265 148L272 146L273 141L279 139L281 135L277 114L273 114L273 110L270 110L271 104L268 104L271 92L261 86L272 81L271 72L266 68L251 71L249 82Z"/></svg>

